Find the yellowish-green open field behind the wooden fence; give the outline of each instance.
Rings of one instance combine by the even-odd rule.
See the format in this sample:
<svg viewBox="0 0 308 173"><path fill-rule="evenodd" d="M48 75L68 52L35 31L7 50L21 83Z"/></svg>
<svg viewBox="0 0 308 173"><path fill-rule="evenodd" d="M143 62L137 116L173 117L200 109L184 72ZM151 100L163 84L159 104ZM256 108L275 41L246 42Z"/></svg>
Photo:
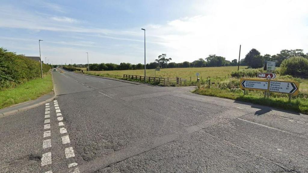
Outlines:
<svg viewBox="0 0 308 173"><path fill-rule="evenodd" d="M246 66L240 66L240 69L246 68ZM84 73L87 73L86 68L81 68ZM175 78L180 77L182 79L197 81L196 73L199 73L199 78L206 79L210 77L211 79L217 78L229 78L231 71L237 70L237 66L225 66L225 67L193 67L193 68L164 68L160 71L156 71L156 77L162 78ZM144 76L144 70L113 70L113 71L90 71L91 74L99 74L105 77L113 78L123 78L123 74ZM155 76L155 69L146 70L146 75L148 77Z"/></svg>

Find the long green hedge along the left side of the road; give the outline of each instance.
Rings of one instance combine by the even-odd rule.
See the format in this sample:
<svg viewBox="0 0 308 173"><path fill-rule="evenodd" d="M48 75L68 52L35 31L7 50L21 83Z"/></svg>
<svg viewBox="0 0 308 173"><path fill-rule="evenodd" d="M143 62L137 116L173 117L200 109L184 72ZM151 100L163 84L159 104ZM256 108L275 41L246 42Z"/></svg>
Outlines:
<svg viewBox="0 0 308 173"><path fill-rule="evenodd" d="M51 66L43 64L43 73ZM40 62L0 48L0 90L41 77Z"/></svg>

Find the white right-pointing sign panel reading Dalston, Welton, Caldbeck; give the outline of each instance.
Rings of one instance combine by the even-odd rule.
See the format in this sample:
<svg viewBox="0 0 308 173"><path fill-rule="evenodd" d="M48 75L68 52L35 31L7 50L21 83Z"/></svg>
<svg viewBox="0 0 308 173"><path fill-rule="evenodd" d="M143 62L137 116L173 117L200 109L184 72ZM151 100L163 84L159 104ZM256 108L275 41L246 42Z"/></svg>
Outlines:
<svg viewBox="0 0 308 173"><path fill-rule="evenodd" d="M297 90L294 82L270 81L270 91L293 94Z"/></svg>

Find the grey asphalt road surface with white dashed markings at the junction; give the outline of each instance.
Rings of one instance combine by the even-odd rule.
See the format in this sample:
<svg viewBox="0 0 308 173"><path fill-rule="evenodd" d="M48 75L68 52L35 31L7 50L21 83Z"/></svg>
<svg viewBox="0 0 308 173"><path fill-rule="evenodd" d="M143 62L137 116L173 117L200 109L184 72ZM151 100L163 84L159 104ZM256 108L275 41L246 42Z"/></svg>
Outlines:
<svg viewBox="0 0 308 173"><path fill-rule="evenodd" d="M308 172L307 115L52 73L54 101L0 119L0 172Z"/></svg>

